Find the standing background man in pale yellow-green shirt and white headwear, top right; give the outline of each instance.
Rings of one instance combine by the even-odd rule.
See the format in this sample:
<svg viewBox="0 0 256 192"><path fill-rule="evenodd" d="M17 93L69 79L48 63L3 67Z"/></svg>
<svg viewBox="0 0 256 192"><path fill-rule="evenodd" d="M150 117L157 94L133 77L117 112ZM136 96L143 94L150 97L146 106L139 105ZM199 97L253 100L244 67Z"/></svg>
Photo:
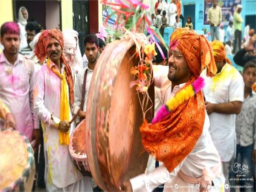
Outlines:
<svg viewBox="0 0 256 192"><path fill-rule="evenodd" d="M234 32L235 38L233 41L233 54L236 53L236 47L238 43L238 50L241 49L241 41L242 41L242 23L244 20L241 17L242 6L239 4L236 6L236 11L234 12Z"/></svg>

